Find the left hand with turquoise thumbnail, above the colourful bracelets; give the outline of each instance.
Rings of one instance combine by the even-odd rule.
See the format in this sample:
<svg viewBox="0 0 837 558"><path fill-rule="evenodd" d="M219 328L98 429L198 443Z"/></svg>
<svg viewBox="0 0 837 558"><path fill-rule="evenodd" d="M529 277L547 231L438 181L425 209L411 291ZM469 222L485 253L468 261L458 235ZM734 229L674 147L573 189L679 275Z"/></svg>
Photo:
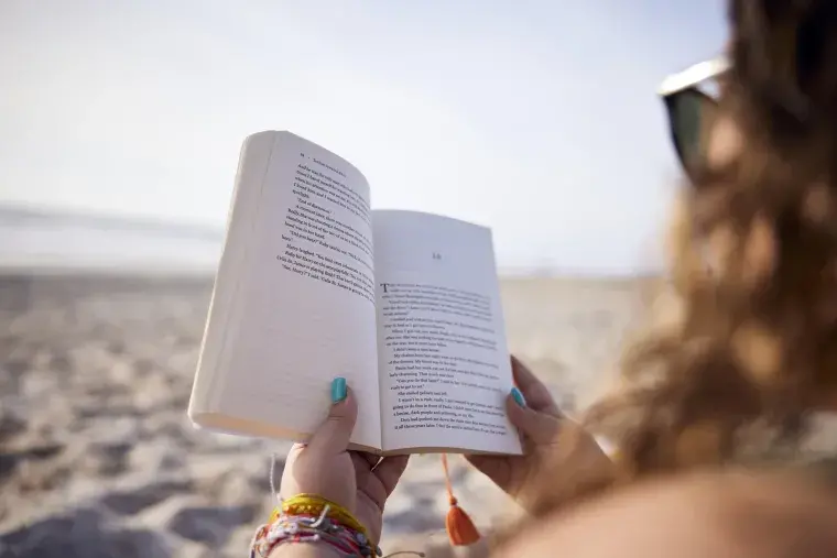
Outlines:
<svg viewBox="0 0 837 558"><path fill-rule="evenodd" d="M358 405L343 379L333 383L336 401L328 417L308 444L294 444L285 461L280 495L317 494L346 507L369 530L373 543L381 539L383 506L406 468L407 456L379 458L348 451Z"/></svg>

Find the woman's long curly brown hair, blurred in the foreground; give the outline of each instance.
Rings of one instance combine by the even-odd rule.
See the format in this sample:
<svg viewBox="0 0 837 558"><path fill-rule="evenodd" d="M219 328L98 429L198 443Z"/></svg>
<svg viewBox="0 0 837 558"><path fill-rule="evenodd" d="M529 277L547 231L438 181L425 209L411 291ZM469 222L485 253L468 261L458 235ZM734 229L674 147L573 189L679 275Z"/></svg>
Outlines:
<svg viewBox="0 0 837 558"><path fill-rule="evenodd" d="M677 317L589 413L629 481L793 442L837 405L837 1L731 0L729 17L731 69L672 231Z"/></svg>

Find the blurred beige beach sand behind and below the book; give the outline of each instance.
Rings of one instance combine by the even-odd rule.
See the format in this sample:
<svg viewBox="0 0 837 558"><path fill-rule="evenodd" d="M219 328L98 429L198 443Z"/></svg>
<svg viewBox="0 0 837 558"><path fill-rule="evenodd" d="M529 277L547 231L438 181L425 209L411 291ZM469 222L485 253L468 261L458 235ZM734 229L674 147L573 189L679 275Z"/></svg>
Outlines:
<svg viewBox="0 0 837 558"><path fill-rule="evenodd" d="M206 278L0 278L0 557L243 556L273 505L287 444L195 430L185 416ZM503 282L510 347L567 411L611 374L640 297L631 281ZM435 456L414 457L385 513L384 550L441 534ZM486 527L513 505L454 459ZM388 547L388 545L390 545ZM393 546L394 545L394 546Z"/></svg>

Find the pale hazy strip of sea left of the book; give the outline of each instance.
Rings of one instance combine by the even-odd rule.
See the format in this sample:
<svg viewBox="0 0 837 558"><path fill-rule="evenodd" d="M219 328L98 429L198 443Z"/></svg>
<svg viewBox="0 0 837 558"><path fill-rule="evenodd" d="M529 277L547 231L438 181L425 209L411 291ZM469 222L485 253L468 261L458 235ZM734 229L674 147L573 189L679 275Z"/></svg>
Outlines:
<svg viewBox="0 0 837 558"><path fill-rule="evenodd" d="M0 208L0 270L211 274L224 231Z"/></svg>

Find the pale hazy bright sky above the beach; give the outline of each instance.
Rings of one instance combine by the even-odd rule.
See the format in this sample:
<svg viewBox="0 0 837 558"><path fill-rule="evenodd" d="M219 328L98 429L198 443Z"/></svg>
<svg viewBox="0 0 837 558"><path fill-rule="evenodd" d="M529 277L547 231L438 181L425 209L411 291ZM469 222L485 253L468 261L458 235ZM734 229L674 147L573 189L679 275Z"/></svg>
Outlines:
<svg viewBox="0 0 837 558"><path fill-rule="evenodd" d="M721 0L0 0L0 204L222 227L290 130L374 208L493 229L501 267L656 265L680 172L655 90Z"/></svg>

